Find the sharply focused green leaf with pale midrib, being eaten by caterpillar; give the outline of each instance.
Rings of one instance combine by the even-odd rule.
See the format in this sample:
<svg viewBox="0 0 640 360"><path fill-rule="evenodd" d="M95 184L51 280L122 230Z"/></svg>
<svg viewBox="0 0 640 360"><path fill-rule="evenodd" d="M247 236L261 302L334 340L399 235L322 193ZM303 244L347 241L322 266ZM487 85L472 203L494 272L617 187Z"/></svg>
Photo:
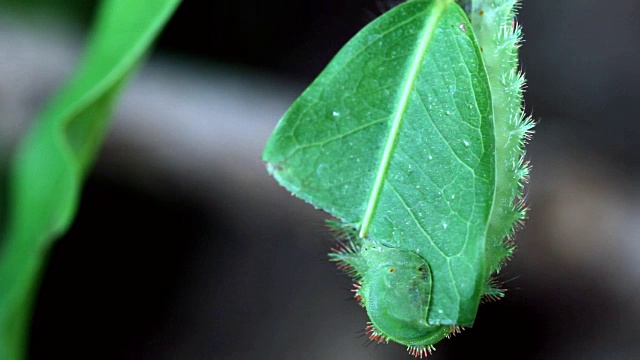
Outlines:
<svg viewBox="0 0 640 360"><path fill-rule="evenodd" d="M473 324L495 192L491 94L466 14L409 1L361 30L296 100L263 157L366 241L423 257L427 322Z"/></svg>

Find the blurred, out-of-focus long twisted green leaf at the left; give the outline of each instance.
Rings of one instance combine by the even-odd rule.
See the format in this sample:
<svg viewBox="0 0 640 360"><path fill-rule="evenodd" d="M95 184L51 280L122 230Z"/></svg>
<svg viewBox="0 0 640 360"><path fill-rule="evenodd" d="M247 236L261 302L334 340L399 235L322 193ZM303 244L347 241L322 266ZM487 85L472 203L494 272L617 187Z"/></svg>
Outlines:
<svg viewBox="0 0 640 360"><path fill-rule="evenodd" d="M0 252L1 360L26 357L31 306L48 250L73 220L120 91L179 3L104 1L75 74L17 150Z"/></svg>

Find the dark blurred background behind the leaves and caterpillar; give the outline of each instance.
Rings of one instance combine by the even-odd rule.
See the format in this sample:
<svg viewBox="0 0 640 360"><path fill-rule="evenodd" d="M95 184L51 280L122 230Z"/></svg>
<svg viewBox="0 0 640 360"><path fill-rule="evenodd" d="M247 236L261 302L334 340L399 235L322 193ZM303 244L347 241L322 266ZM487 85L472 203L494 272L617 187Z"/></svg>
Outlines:
<svg viewBox="0 0 640 360"><path fill-rule="evenodd" d="M408 359L368 344L326 215L260 152L386 0L184 0L53 249L32 359ZM0 160L80 54L94 1L0 4ZM525 0L531 207L505 299L433 359L640 358L640 2Z"/></svg>

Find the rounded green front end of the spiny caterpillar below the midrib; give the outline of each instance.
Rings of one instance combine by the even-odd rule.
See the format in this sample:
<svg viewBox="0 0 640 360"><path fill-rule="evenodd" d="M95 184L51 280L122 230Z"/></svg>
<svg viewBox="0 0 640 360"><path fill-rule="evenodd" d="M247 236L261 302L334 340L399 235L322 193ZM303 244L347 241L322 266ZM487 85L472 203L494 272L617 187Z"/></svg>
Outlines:
<svg viewBox="0 0 640 360"><path fill-rule="evenodd" d="M408 346L419 357L451 332L450 326L427 323L431 299L431 272L418 254L381 245L365 245L366 263L357 291L367 310L372 340Z"/></svg>

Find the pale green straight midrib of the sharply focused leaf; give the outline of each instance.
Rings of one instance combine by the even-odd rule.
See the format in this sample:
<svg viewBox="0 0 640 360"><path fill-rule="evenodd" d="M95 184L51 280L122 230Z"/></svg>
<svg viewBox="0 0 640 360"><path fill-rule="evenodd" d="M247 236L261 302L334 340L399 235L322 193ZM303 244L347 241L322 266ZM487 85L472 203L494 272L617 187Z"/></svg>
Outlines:
<svg viewBox="0 0 640 360"><path fill-rule="evenodd" d="M399 98L398 105L393 116L391 129L389 131L384 151L382 152L382 157L380 159L380 164L378 165L376 178L374 180L373 187L367 201L367 208L360 223L359 236L361 238L366 238L367 233L369 232L369 227L371 226L371 221L373 219L373 215L375 214L378 201L380 199L380 193L382 192L382 187L389 172L389 164L391 162L391 158L393 157L393 152L398 140L398 133L400 131L400 127L404 120L404 114L409 104L409 98L411 97L416 79L418 78L418 73L420 72L420 69L422 67L424 56L427 52L427 49L429 48L429 44L431 42L431 39L433 38L433 34L435 33L438 21L440 20L440 17L444 13L449 2L450 0L435 1L431 7L430 13L427 14L427 19L424 23L423 30L420 33L420 43L418 44L418 47L413 54L413 61L411 62L409 70L407 71L406 79L404 82L405 86L402 89L402 94Z"/></svg>

